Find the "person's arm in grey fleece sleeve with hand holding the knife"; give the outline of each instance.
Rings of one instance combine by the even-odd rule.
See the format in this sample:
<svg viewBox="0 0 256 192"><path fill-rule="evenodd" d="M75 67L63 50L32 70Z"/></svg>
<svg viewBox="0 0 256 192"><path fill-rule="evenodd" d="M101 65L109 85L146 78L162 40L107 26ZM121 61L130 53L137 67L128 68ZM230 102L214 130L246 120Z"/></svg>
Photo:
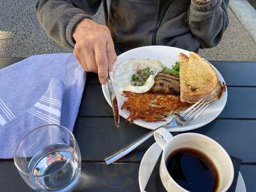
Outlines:
<svg viewBox="0 0 256 192"><path fill-rule="evenodd" d="M91 18L101 0L38 0L36 15L47 35L59 44L74 48L74 56L87 72L98 72L105 83L116 60L110 32Z"/></svg>

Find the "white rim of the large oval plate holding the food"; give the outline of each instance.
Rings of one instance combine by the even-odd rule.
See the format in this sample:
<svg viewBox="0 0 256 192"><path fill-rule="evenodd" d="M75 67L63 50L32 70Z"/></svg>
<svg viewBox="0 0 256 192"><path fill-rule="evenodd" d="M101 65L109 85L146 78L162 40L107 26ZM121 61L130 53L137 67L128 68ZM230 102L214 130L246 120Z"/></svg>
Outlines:
<svg viewBox="0 0 256 192"><path fill-rule="evenodd" d="M137 47L135 49L131 49L127 52L123 52L122 54L120 54L118 57L120 56L123 56L124 54L129 54L129 52L132 52L134 50L140 50L140 49L154 49L154 47L162 47L163 49L176 49L177 51L180 51L180 52L185 52L186 54L189 53L189 51L187 50L184 50L184 49L180 49L180 48L177 48L177 47L170 47L170 46L164 46L164 45L150 45L150 46L144 46L144 47ZM206 60L207 61L207 60ZM207 61L209 62L209 61ZM209 62L210 63L210 62ZM214 115L214 118L209 118L209 120L206 120L204 122L198 122L197 124L194 124L194 125L188 125L186 127L177 127L177 128L173 128L170 132L183 132L183 131L191 131L193 129L198 129L200 127L203 127L204 125L207 125L209 123L211 123L214 119L216 119L220 113L223 111L223 109L225 108L226 104L227 104L227 97L228 97L228 91L227 91L227 86L226 86L226 83L225 83L225 79L223 78L223 76L221 75L221 73L217 70L216 67L214 67L214 65L212 65L210 63L211 67L214 68L214 70L216 71L216 73L218 74L218 77L220 77L220 80L222 81L223 80L223 83L225 84L225 88L226 88L226 91L224 92L224 94L221 96L221 97L225 97L225 100L223 102L223 104L221 105L221 109L220 111L218 111L218 113L216 113L216 115ZM109 106L111 106L111 101L110 99L108 98L108 86L106 84L102 84L102 92L104 94L104 97L105 99L107 100ZM112 106L111 106L112 107ZM122 114L120 114L120 116L122 116L124 118L124 116ZM126 118L125 118L126 119ZM154 130L156 129L155 127L150 127L149 125L143 125L141 124L141 122L137 122L136 120L134 122L132 122L132 124L136 124L140 127L144 127L144 128L147 128L147 129L151 129L151 130Z"/></svg>

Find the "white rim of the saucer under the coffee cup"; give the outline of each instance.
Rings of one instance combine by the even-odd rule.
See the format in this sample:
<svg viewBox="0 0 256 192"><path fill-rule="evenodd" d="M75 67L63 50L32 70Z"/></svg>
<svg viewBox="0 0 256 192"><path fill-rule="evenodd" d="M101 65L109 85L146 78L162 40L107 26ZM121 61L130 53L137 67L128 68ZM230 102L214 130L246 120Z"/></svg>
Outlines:
<svg viewBox="0 0 256 192"><path fill-rule="evenodd" d="M142 159L141 159L141 162L140 162L140 167L139 167L139 172L138 172L138 182L139 182L139 187L140 187L140 191L141 192L145 192L145 188L143 189L143 186L141 186L141 172L142 172L142 166L143 166L143 162L145 162L146 159L148 159L148 154L150 153L150 150L153 150L155 147L157 146L157 143L153 143L152 145L150 145L150 147L148 147L147 151L145 152L145 154L143 155ZM159 148L159 150L161 151L161 149ZM151 174L151 173L150 173ZM241 172L239 172L239 175L238 175L238 178L237 178L237 181L240 180L240 183L241 183L241 188L240 189L244 189L243 191L237 191L237 186L236 186L236 191L235 192L246 192L246 185L244 183L244 179L243 179L243 175L241 174Z"/></svg>

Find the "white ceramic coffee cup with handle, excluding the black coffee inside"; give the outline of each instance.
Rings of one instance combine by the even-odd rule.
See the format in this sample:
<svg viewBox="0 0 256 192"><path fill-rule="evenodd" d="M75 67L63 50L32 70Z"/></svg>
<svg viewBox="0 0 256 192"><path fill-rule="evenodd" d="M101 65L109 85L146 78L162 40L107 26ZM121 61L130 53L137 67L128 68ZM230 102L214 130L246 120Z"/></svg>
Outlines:
<svg viewBox="0 0 256 192"><path fill-rule="evenodd" d="M214 163L220 175L220 183L217 191L225 192L230 188L234 179L234 167L225 149L216 141L203 134L192 132L182 133L173 137L172 134L164 128L155 131L154 138L157 144L163 149L159 174L166 191L188 192L188 190L179 186L179 184L172 179L166 168L166 158L178 148L194 148L204 153L211 159L212 163ZM203 178L202 182L204 182Z"/></svg>

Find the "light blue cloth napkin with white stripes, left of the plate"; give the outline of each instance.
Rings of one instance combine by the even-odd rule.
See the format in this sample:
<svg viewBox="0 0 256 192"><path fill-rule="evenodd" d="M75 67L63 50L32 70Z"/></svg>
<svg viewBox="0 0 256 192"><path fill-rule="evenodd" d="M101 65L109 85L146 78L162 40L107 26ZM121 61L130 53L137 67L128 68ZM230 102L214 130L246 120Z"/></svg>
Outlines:
<svg viewBox="0 0 256 192"><path fill-rule="evenodd" d="M71 53L31 56L0 70L0 158L12 158L22 137L40 125L73 131L85 79Z"/></svg>

